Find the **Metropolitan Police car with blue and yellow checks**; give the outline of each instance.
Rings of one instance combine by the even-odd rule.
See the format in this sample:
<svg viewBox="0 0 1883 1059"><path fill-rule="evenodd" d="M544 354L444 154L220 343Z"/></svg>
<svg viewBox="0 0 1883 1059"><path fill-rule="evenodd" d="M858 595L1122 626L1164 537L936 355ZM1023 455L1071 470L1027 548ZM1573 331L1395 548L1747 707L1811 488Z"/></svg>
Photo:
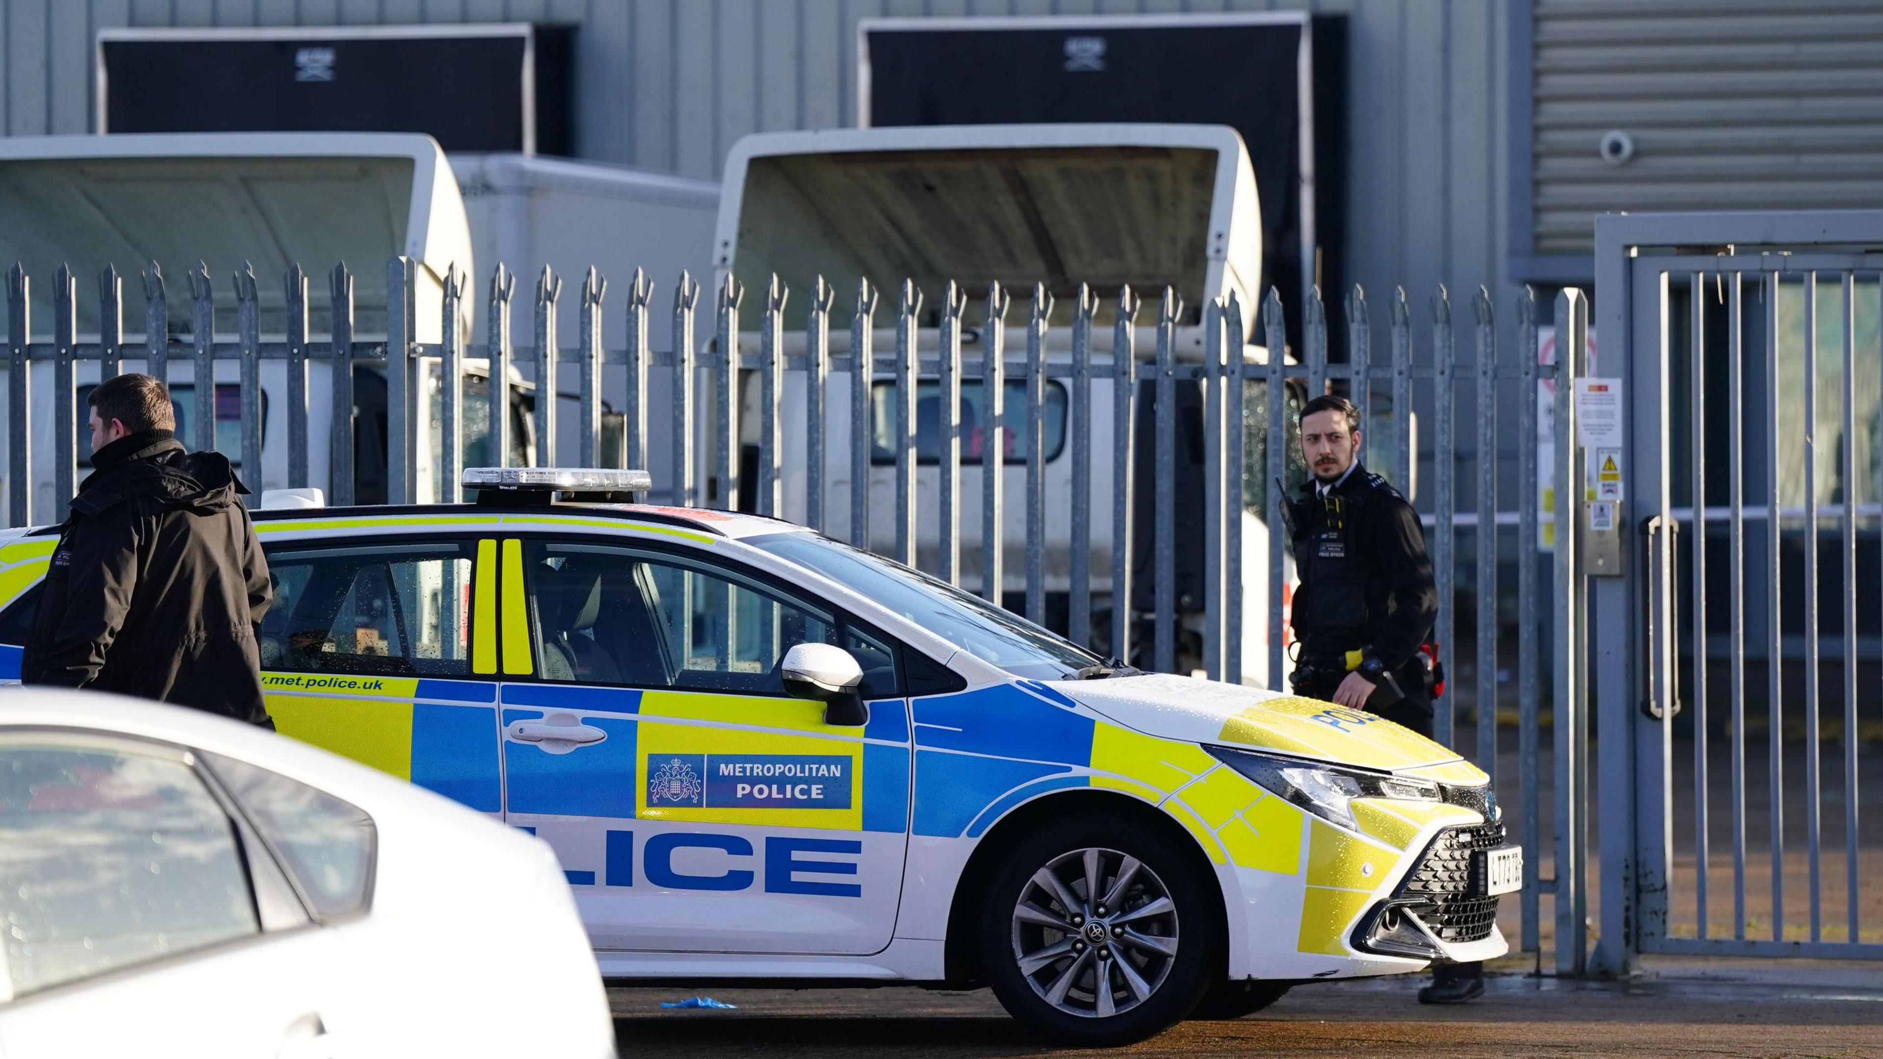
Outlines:
<svg viewBox="0 0 1883 1059"><path fill-rule="evenodd" d="M1506 952L1521 854L1412 731L1107 663L798 526L618 503L642 471L465 486L256 513L267 709L548 840L610 980L987 984L1107 1044ZM49 533L0 539L0 643Z"/></svg>

